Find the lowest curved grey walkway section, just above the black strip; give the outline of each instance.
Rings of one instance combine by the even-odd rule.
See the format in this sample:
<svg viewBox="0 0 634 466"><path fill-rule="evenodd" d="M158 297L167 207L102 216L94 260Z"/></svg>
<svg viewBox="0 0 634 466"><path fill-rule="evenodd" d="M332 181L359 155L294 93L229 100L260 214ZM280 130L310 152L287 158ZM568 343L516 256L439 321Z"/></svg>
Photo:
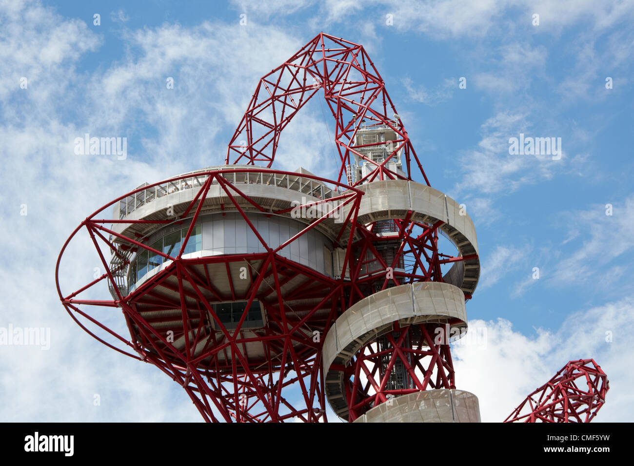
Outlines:
<svg viewBox="0 0 634 466"><path fill-rule="evenodd" d="M397 396L368 410L354 422L481 422L477 396L436 389Z"/></svg>

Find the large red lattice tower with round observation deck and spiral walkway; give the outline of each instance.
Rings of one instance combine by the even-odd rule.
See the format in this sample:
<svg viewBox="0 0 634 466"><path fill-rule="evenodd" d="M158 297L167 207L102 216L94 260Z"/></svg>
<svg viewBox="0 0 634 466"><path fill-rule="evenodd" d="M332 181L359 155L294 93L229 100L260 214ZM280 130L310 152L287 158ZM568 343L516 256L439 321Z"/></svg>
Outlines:
<svg viewBox="0 0 634 466"><path fill-rule="evenodd" d="M320 89L337 181L271 168L281 131ZM467 329L475 229L430 188L363 47L322 33L262 78L232 155L234 165L145 183L87 217L56 265L70 316L160 368L206 421L321 422L327 401L354 421L429 389L453 400L444 332ZM82 239L105 273L62 292L64 253ZM479 420L472 394L455 399L467 401L433 415Z"/></svg>

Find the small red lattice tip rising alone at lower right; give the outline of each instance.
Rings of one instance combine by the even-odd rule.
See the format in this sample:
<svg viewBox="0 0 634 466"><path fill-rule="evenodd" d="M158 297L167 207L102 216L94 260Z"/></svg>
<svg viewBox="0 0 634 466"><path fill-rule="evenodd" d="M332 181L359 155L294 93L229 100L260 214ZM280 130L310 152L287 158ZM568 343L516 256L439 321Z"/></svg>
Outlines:
<svg viewBox="0 0 634 466"><path fill-rule="evenodd" d="M594 359L569 361L504 422L590 422L605 403L607 375Z"/></svg>

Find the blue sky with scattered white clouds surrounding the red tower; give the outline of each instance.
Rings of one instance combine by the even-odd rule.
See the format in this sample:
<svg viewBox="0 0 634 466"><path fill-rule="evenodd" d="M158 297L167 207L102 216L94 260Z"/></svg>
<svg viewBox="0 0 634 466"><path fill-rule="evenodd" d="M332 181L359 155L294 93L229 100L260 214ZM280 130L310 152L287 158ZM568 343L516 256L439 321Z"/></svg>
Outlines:
<svg viewBox="0 0 634 466"><path fill-rule="evenodd" d="M467 315L487 342L454 354L483 420L586 357L611 381L597 420L630 420L633 20L633 1L0 1L0 327L51 328L48 351L0 346L0 398L13 401L0 419L199 420L158 370L72 323L57 254L138 184L223 163L259 77L324 31L365 46L430 183L474 220L482 274ZM311 101L275 166L332 176L327 126ZM126 160L74 155L84 133L127 137ZM561 138L561 159L510 155L520 133ZM91 280L94 258L73 261L73 280Z"/></svg>

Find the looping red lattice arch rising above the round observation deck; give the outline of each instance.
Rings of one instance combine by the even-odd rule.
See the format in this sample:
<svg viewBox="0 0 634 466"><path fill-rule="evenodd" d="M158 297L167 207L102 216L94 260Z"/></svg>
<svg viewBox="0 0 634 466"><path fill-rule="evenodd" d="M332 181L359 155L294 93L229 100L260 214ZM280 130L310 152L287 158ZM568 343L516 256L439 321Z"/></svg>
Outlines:
<svg viewBox="0 0 634 466"><path fill-rule="evenodd" d="M346 181L346 167L353 164L354 155L375 165L375 170L351 183L353 186L375 179L411 179L413 158L429 186L403 122L385 90L385 82L363 46L323 33L260 79L249 108L231 138L226 163L231 160L234 164L263 162L270 167L281 131L320 89L335 119L335 143L341 161L337 181ZM382 143L359 145L354 141L364 120L384 124L397 135L392 141L392 150L382 162L375 162L359 152L360 148ZM406 177L387 168L401 151L406 162Z"/></svg>

